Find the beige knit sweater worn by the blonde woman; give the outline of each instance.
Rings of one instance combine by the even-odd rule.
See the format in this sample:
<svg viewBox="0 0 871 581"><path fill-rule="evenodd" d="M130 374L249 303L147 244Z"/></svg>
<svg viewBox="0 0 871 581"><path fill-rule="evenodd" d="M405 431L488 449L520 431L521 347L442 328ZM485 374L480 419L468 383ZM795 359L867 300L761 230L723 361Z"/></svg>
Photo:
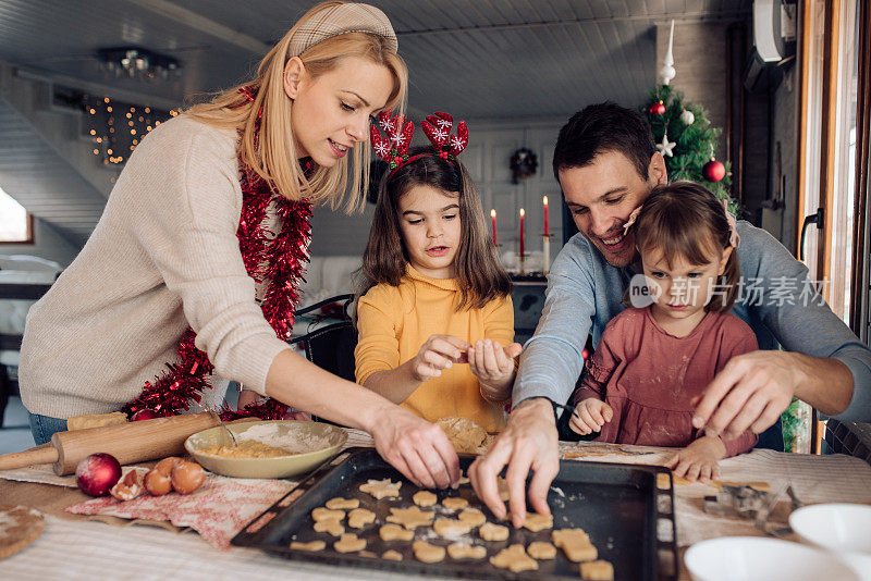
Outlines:
<svg viewBox="0 0 871 581"><path fill-rule="evenodd" d="M115 411L197 333L221 378L260 394L289 348L263 319L236 239L236 135L181 115L127 161L82 252L30 308L19 381L33 413Z"/></svg>

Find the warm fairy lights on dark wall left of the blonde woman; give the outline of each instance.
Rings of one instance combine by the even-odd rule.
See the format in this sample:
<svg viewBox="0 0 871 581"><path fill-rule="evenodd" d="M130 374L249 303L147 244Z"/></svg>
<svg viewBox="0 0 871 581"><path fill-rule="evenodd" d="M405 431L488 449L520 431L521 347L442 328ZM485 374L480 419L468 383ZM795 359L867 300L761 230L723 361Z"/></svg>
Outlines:
<svg viewBox="0 0 871 581"><path fill-rule="evenodd" d="M94 143L94 156L103 165L123 165L142 138L151 129L179 115L179 111L125 103L109 97L83 96L86 131Z"/></svg>

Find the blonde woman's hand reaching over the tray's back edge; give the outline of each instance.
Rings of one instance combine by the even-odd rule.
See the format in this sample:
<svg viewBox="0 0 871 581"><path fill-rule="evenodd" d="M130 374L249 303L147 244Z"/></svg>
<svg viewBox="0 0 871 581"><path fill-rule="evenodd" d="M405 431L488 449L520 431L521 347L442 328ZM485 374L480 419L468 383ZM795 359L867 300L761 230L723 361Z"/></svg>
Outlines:
<svg viewBox="0 0 871 581"><path fill-rule="evenodd" d="M369 429L378 453L417 486L459 483L459 459L441 428L398 406L383 409Z"/></svg>

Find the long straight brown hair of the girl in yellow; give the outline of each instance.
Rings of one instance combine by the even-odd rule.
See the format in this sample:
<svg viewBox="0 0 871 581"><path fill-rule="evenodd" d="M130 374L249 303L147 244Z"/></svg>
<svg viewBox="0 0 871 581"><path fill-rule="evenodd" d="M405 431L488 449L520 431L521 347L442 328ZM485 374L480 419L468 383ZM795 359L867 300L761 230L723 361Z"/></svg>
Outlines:
<svg viewBox="0 0 871 581"><path fill-rule="evenodd" d="M431 150L419 148L409 153L414 156ZM461 228L459 247L454 258L461 293L457 311L480 309L489 301L511 294L511 279L490 243L481 198L468 171L459 162L422 156L381 182L369 243L363 254L358 296L377 284L398 286L405 274L408 252L400 230L400 199L415 186L430 186L457 198Z"/></svg>

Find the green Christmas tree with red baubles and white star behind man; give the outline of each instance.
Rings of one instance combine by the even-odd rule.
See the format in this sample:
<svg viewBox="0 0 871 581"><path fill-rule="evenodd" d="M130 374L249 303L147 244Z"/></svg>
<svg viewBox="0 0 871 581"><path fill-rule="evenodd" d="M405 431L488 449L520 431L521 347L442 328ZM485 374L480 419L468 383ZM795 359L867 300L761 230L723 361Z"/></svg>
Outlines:
<svg viewBox="0 0 871 581"><path fill-rule="evenodd" d="M729 196L729 163L717 161L715 156L722 129L711 126L704 109L687 103L680 92L663 83L650 90L650 102L642 112L665 159L668 177L704 184L717 198L727 199L729 211L737 214L738 205Z"/></svg>

